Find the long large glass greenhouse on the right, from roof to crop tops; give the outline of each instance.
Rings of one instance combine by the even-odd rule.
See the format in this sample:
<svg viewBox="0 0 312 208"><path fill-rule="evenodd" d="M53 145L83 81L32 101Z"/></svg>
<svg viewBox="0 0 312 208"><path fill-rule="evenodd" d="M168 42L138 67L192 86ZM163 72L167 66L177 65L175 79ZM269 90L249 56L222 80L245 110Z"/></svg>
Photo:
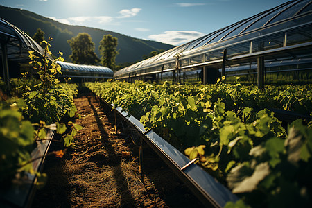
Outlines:
<svg viewBox="0 0 312 208"><path fill-rule="evenodd" d="M215 83L239 76L262 88L311 81L312 3L288 1L114 73L116 79Z"/></svg>

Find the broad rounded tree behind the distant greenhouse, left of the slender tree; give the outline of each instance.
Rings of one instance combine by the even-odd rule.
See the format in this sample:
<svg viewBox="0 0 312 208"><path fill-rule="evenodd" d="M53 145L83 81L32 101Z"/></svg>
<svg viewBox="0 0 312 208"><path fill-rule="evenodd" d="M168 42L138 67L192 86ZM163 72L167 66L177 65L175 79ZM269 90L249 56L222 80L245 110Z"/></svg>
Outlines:
<svg viewBox="0 0 312 208"><path fill-rule="evenodd" d="M99 59L94 52L95 44L88 33L78 33L76 37L67 40L71 46L69 58L75 64L96 64Z"/></svg>

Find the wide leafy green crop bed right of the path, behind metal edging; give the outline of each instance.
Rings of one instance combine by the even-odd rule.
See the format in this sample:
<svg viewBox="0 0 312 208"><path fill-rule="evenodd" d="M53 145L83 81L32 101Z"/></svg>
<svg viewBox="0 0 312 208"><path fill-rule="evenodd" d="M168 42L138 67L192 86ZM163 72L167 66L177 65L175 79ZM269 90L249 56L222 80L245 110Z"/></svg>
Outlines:
<svg viewBox="0 0 312 208"><path fill-rule="evenodd" d="M222 80L216 85L85 85L190 159L198 157L198 164L252 207L311 205L312 123L300 119L285 130L268 110L312 115L311 85L263 90Z"/></svg>

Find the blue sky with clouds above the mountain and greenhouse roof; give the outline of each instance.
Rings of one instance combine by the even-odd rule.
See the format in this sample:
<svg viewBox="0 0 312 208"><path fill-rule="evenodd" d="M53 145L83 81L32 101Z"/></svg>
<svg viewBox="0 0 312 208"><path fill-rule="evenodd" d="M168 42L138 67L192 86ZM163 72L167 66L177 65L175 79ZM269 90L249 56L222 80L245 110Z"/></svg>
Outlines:
<svg viewBox="0 0 312 208"><path fill-rule="evenodd" d="M180 45L286 0L0 0L64 24ZM10 21L10 20L8 20Z"/></svg>

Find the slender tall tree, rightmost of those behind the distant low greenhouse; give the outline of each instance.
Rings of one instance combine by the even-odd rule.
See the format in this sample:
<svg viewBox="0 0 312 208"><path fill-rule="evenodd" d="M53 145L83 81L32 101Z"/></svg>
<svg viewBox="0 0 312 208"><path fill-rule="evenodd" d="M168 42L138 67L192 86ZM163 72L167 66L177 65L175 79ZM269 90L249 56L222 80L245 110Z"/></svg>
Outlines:
<svg viewBox="0 0 312 208"><path fill-rule="evenodd" d="M118 39L117 37L113 37L112 35L104 35L100 46L98 46L98 49L102 55L101 57L101 64L104 67L108 67L114 71L116 65L115 65L115 59L118 55L118 51L116 49L118 45Z"/></svg>

